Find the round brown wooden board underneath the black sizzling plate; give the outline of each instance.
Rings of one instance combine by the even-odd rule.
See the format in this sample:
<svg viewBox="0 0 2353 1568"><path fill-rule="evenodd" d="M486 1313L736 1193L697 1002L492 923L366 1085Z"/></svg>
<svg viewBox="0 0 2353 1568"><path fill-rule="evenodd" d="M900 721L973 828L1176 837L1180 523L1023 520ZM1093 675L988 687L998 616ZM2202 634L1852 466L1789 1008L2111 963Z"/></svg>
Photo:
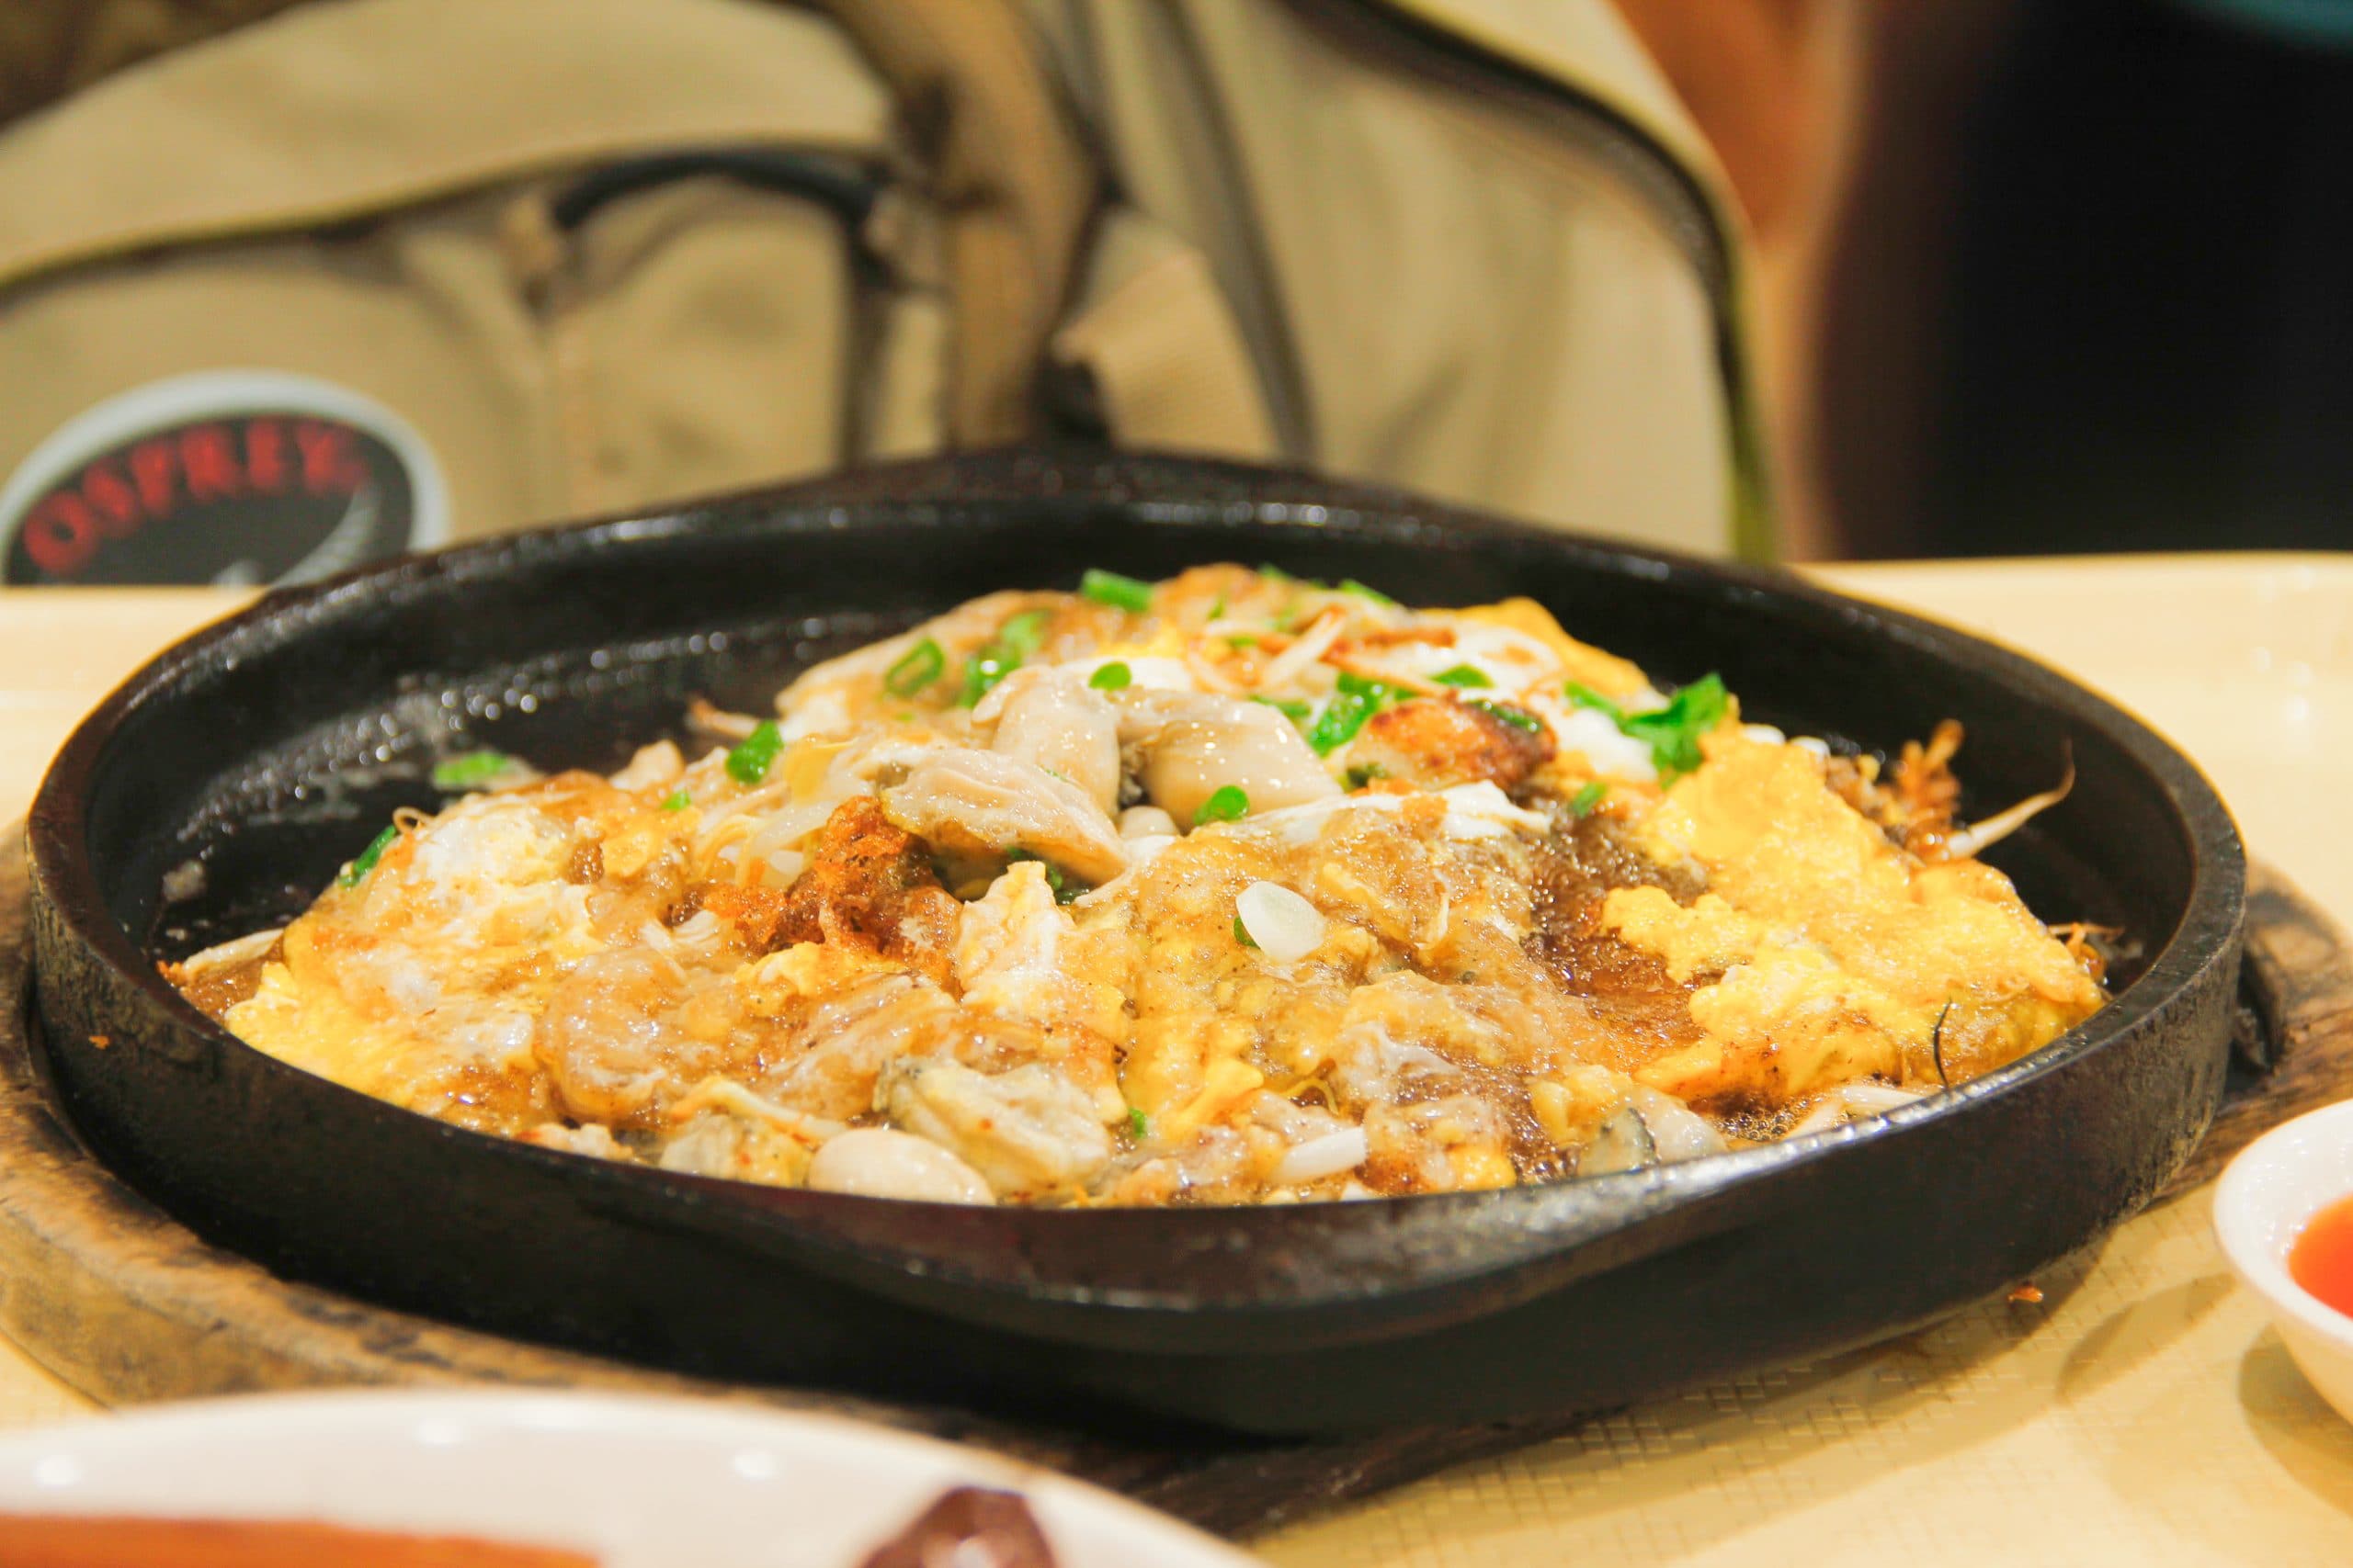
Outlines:
<svg viewBox="0 0 2353 1568"><path fill-rule="evenodd" d="M2353 959L2275 872L2249 898L2233 1095L2165 1199L2257 1133L2353 1093ZM654 1373L386 1312L278 1279L134 1194L59 1117L26 1025L21 835L0 849L0 1331L104 1403L327 1385L508 1385L692 1394L878 1420L1047 1465L1226 1535L1257 1535L1447 1465L1572 1432L1588 1415L1438 1425L1325 1443L1012 1425L951 1408Z"/></svg>

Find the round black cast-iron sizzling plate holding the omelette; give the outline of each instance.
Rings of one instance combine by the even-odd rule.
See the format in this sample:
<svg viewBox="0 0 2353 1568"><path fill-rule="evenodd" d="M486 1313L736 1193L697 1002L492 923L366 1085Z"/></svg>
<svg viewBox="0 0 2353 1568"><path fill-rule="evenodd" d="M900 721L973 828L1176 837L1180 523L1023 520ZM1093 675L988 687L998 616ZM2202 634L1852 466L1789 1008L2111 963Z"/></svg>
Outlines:
<svg viewBox="0 0 2353 1568"><path fill-rule="evenodd" d="M1089 564L1527 592L1753 719L1967 724L1993 856L2144 959L2085 1027L1882 1121L1586 1182L1289 1208L953 1208L666 1175L414 1117L238 1044L155 973L282 919L435 752L616 766L692 693ZM38 1018L87 1140L271 1267L511 1335L751 1380L1315 1432L1600 1408L1852 1347L2115 1225L2224 1081L2242 853L2212 788L2049 670L1786 576L1184 461L995 456L494 541L275 595L134 675L31 818ZM186 896L188 863L205 867ZM179 870L179 903L165 903ZM104 1048L96 1039L108 1041Z"/></svg>

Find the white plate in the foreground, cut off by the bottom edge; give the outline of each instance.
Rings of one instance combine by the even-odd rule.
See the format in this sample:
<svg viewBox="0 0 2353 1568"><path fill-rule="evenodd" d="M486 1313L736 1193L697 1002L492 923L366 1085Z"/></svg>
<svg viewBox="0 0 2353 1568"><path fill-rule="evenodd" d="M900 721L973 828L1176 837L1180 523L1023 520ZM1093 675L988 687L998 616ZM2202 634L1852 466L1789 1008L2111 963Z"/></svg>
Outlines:
<svg viewBox="0 0 2353 1568"><path fill-rule="evenodd" d="M0 1441L0 1509L318 1519L605 1568L854 1568L951 1486L1028 1497L1061 1568L1247 1568L1111 1493L821 1415L574 1394L273 1394Z"/></svg>

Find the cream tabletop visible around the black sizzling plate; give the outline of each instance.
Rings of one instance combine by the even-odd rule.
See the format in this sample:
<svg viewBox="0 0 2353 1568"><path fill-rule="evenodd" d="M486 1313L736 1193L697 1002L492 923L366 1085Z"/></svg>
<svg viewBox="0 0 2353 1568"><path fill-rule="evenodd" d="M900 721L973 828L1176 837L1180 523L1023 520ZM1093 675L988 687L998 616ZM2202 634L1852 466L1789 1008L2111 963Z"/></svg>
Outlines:
<svg viewBox="0 0 2353 1568"><path fill-rule="evenodd" d="M2169 733L2249 849L2353 924L2353 555L1826 567ZM214 590L0 592L0 806ZM1259 1542L1280 1568L2353 1561L2353 1425L2214 1248L2207 1192L1925 1333L1661 1399ZM1868 1237L1859 1239L1868 1246ZM0 1281L5 1288L5 1281ZM1737 1302L1727 1302L1737 1312ZM87 1410L0 1342L0 1427Z"/></svg>

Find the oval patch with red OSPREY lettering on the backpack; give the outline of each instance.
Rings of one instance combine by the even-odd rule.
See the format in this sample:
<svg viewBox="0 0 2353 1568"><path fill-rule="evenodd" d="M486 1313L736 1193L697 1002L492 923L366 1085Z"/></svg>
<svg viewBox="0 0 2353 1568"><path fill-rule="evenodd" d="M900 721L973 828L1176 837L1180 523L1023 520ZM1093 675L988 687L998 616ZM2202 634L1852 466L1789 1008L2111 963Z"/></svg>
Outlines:
<svg viewBox="0 0 2353 1568"><path fill-rule="evenodd" d="M7 583L306 583L447 536L440 465L405 421L278 371L108 397L0 489Z"/></svg>

